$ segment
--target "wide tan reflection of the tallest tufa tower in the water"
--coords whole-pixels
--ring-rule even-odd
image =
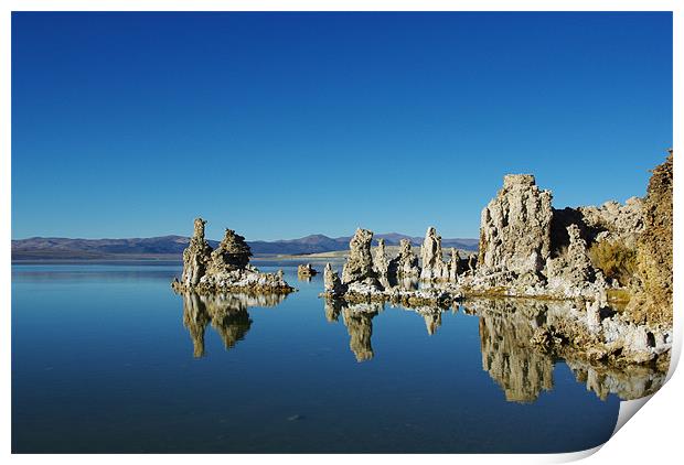
[[[526,314],[513,305],[490,301],[477,310],[480,316],[482,369],[501,387],[510,402],[534,402],[542,390],[554,387],[552,357],[531,350],[528,342],[544,318],[545,309],[531,307]]]

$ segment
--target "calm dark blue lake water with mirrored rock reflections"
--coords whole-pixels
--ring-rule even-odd
[[[278,268],[299,289],[281,302],[177,295],[177,264],[12,266],[13,452],[569,452],[610,437],[618,396],[520,348],[528,336],[505,323],[335,307],[322,274]]]

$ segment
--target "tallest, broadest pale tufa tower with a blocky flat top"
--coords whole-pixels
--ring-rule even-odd
[[[531,174],[504,176],[503,188],[482,210],[478,266],[487,273],[536,275],[551,255],[552,194]]]

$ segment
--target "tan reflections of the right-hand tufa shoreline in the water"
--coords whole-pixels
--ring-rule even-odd
[[[466,315],[479,317],[482,369],[502,389],[506,401],[535,402],[542,391],[554,389],[556,358],[535,350],[530,340],[539,326],[557,324],[571,302],[534,300],[475,299],[462,307]],[[328,322],[338,322],[340,315],[350,335],[350,348],[357,361],[373,358],[373,318],[384,309],[381,303],[349,304],[325,299]],[[443,310],[421,306],[405,309],[421,315],[429,335],[441,326]],[[455,311],[456,313],[456,311]],[[608,394],[620,399],[638,399],[655,392],[665,375],[649,367],[624,369],[594,367],[581,360],[565,360],[578,382],[586,383],[601,400]]]

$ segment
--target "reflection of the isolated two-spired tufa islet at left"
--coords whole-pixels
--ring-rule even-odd
[[[210,323],[228,350],[242,340],[252,327],[248,307],[276,306],[286,298],[284,294],[199,295],[192,292],[182,295],[183,325],[190,333],[193,355],[196,358],[204,356],[204,333]]]

